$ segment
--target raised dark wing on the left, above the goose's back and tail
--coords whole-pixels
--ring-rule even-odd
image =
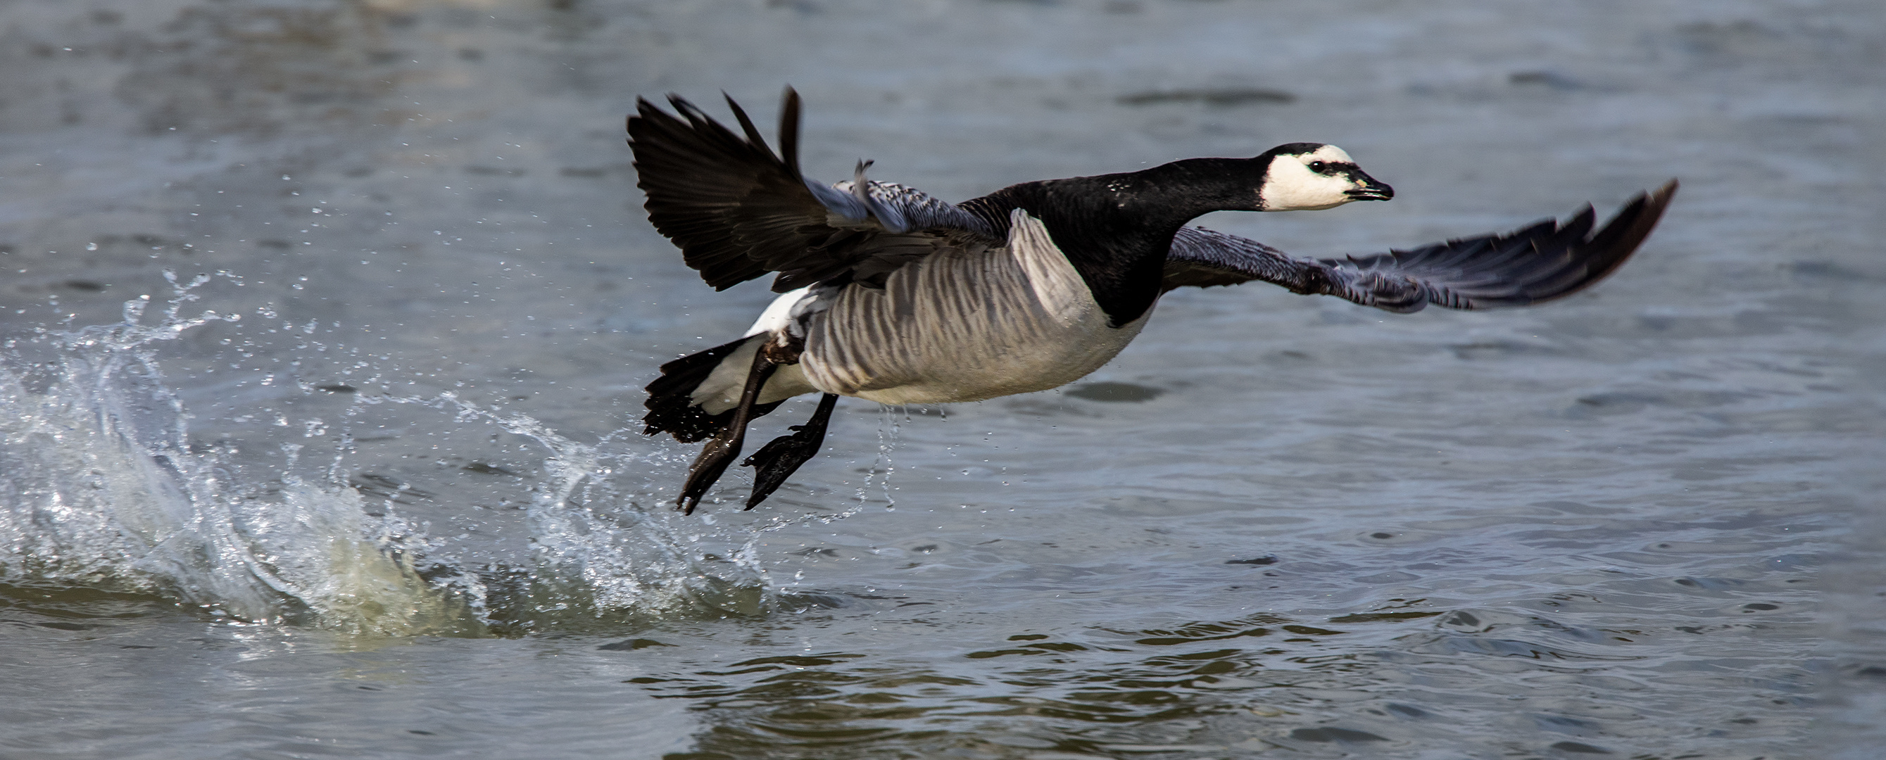
[[[873,183],[858,164],[851,183],[826,187],[800,173],[800,96],[779,115],[781,155],[728,98],[745,136],[670,94],[677,115],[647,100],[628,117],[637,187],[649,221],[719,290],[779,272],[773,290],[854,273],[888,272],[937,245],[1000,245],[988,224],[902,185]]]

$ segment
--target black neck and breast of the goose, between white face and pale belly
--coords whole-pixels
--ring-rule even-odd
[[[960,204],[1009,234],[1009,211],[1047,226],[1113,326],[1152,307],[1166,255],[1184,223],[1211,211],[1254,211],[1267,157],[1186,158],[1143,172],[1011,185]]]

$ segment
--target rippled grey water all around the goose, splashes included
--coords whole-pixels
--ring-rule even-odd
[[[1875,758],[1886,6],[0,2],[0,756]],[[1282,141],[1343,255],[1601,213],[1526,311],[1173,292],[670,509],[743,330],[622,115],[962,200]],[[764,419],[764,441],[811,413]]]

